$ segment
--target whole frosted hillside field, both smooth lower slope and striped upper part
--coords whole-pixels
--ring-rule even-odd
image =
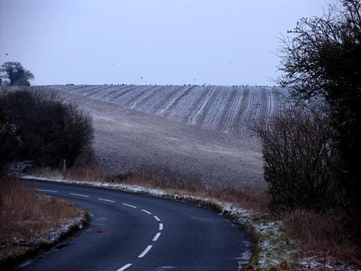
[[[206,185],[263,183],[260,142],[249,127],[282,108],[282,88],[51,86],[93,117],[101,166],[125,173],[166,166]]]

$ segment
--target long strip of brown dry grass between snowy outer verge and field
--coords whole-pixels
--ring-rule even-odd
[[[35,168],[34,175],[61,175],[60,171],[49,168]],[[124,183],[127,185],[141,185],[145,188],[158,188],[168,192],[187,195],[213,197],[224,202],[231,202],[244,209],[257,212],[268,212],[270,197],[265,188],[257,185],[245,185],[241,189],[209,188],[202,185],[197,175],[185,175],[168,168],[140,167],[135,171],[124,174],[110,175],[102,171],[96,163],[77,166],[67,172],[67,178],[73,180],[99,181],[109,183]]]

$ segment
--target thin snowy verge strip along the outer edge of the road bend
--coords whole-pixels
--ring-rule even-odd
[[[92,186],[97,188],[108,188],[113,190],[121,190],[125,192],[134,192],[139,194],[151,195],[154,197],[163,197],[171,200],[179,200],[183,202],[190,202],[198,204],[203,207],[211,207],[222,214],[227,214],[237,224],[246,226],[246,228],[253,232],[258,239],[256,248],[256,255],[248,255],[248,259],[242,257],[242,263],[252,262],[253,268],[260,268],[266,270],[272,266],[280,265],[281,261],[286,261],[292,264],[291,256],[298,251],[297,242],[285,236],[281,231],[282,222],[273,221],[270,217],[256,212],[237,207],[235,204],[228,202],[221,202],[214,198],[197,197],[193,195],[178,195],[176,193],[168,193],[164,190],[144,188],[139,185],[125,185],[121,183],[102,183],[84,180],[69,180],[62,177],[42,177],[35,175],[23,175],[21,178],[26,180],[45,180],[55,183],[67,183],[71,185]],[[304,264],[309,265],[307,261]]]

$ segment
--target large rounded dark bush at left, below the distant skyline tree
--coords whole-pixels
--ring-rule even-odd
[[[0,127],[10,125],[18,139],[13,155],[1,145],[7,159],[33,160],[38,166],[52,168],[66,159],[71,166],[91,144],[91,118],[45,88],[2,91],[0,112]]]

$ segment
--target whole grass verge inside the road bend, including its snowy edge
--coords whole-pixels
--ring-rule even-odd
[[[0,267],[36,255],[87,221],[84,210],[36,193],[16,179],[0,178]]]

